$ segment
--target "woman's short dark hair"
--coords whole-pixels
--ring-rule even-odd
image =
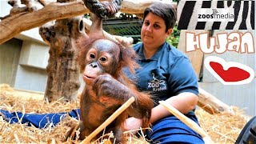
[[[146,8],[146,10],[144,10],[143,21],[146,18],[146,15],[149,13],[158,15],[158,17],[161,17],[165,21],[166,31],[170,28],[174,28],[177,20],[177,14],[174,7],[170,4],[156,2],[150,5],[148,8]]]

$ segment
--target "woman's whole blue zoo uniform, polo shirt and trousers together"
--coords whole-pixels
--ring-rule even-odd
[[[139,56],[138,64],[141,68],[136,70],[134,75],[124,71],[139,90],[150,92],[154,102],[158,104],[158,101],[182,92],[198,95],[198,79],[190,60],[174,46],[165,42],[150,59],[144,57],[142,43],[134,45],[134,50]],[[194,110],[186,116],[198,123]],[[154,122],[151,128],[152,131],[148,130],[147,136],[153,142],[204,143],[199,134],[174,116]],[[166,135],[169,137],[166,138]],[[186,135],[186,139],[182,138],[182,135]]]

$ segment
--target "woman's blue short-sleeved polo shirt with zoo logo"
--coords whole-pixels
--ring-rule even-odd
[[[198,78],[190,60],[174,46],[165,42],[150,59],[144,57],[142,43],[134,45],[134,50],[141,68],[134,75],[127,70],[125,73],[139,90],[150,92],[154,102],[182,92],[198,95]]]

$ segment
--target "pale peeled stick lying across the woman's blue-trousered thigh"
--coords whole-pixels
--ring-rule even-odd
[[[206,133],[206,131],[202,130],[202,128],[200,126],[198,126],[198,124],[196,122],[192,121],[190,118],[187,118],[186,115],[179,112],[177,109],[175,109],[173,106],[171,106],[167,102],[159,101],[159,103],[162,106],[164,106],[166,108],[166,110],[169,110],[171,114],[174,114],[174,116],[176,118],[178,118],[179,120],[184,122],[186,124],[186,126],[189,126],[192,130],[194,130],[195,132],[200,134],[202,136],[203,141],[206,144],[213,143],[212,140],[210,139],[210,136]]]

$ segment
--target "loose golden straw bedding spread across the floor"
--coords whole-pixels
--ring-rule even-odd
[[[68,112],[78,108],[78,102],[45,102],[41,97],[26,98],[19,94],[10,86],[0,85],[0,109],[10,112],[21,111],[22,113],[57,113]],[[243,110],[234,107],[235,114],[208,114],[206,111],[198,108],[196,115],[200,125],[210,138],[216,143],[234,143],[242,127],[246,125],[248,118],[244,117]],[[74,118],[66,117],[57,126],[48,126],[45,129],[38,129],[26,124],[10,124],[0,116],[0,142],[1,143],[63,143],[66,131],[78,121]],[[106,134],[111,138],[112,134]],[[130,143],[146,143],[145,138],[134,138],[128,133],[127,138]],[[103,138],[102,138],[103,139]],[[96,142],[108,141],[99,139]],[[74,140],[74,143],[81,141]],[[66,143],[70,143],[66,142]]]

